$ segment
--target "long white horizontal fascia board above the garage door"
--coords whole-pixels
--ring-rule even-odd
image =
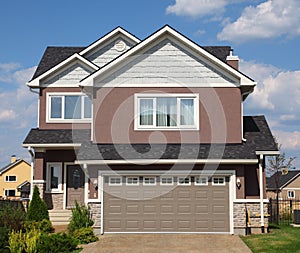
[[[127,160],[77,160],[75,164],[257,164],[257,159],[127,159]]]

